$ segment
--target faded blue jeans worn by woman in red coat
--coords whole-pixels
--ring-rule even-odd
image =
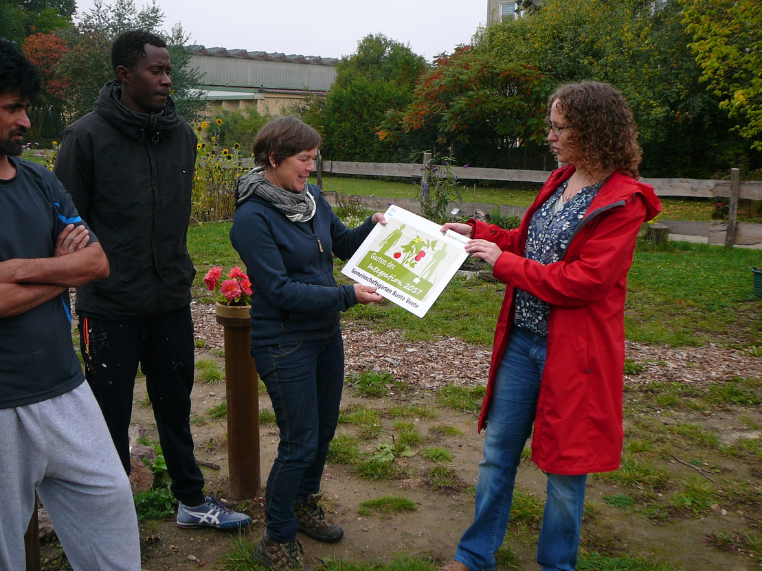
[[[455,559],[472,571],[495,569],[511,515],[521,451],[532,432],[545,366],[547,338],[514,327],[495,377],[479,463],[474,522],[460,538]],[[587,474],[548,477],[537,563],[543,571],[573,571],[577,564]]]

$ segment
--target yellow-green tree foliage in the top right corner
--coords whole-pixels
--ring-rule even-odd
[[[688,44],[719,107],[733,128],[762,151],[762,3],[759,0],[688,0]]]

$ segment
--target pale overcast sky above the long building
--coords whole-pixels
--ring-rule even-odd
[[[77,5],[81,15],[93,2]],[[157,5],[166,16],[165,30],[179,22],[191,41],[203,46],[335,58],[353,53],[367,34],[383,33],[431,60],[469,43],[487,19],[487,0],[157,0]]]

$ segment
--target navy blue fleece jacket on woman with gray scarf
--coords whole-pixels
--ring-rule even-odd
[[[252,346],[325,339],[341,311],[357,304],[354,285],[336,285],[332,254],[350,258],[370,234],[372,217],[347,228],[319,187],[308,184],[305,192],[317,205],[309,222],[291,222],[259,196],[235,211],[230,241],[251,279]]]

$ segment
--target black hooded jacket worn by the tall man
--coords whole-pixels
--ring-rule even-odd
[[[54,172],[106,252],[110,275],[77,289],[78,314],[152,317],[191,302],[187,252],[196,135],[171,99],[136,113],[104,85],[95,110],[63,132]]]

